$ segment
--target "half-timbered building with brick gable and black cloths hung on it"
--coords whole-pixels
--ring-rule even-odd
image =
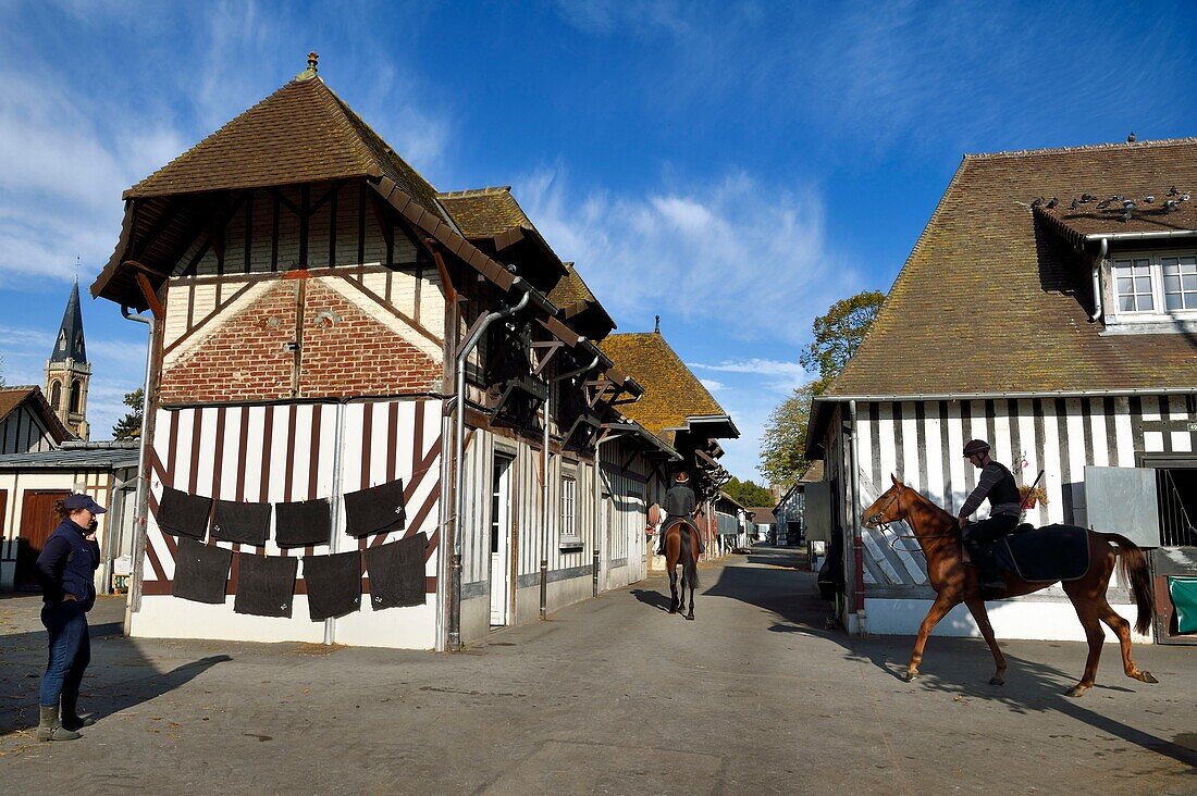
[[[150,329],[130,634],[451,650],[644,577],[654,479],[706,438],[636,421],[614,323],[509,189],[438,193],[312,59],[124,199],[92,293]],[[358,534],[351,498],[395,488]],[[172,506],[208,500],[268,524],[203,514],[196,546]]]

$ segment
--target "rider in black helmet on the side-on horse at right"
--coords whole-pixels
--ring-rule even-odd
[[[960,508],[958,522],[964,529],[965,547],[980,570],[982,588],[996,590],[1004,589],[1005,581],[998,572],[990,542],[1009,534],[1019,524],[1022,497],[1014,475],[1005,466],[990,458],[989,450],[989,443],[984,439],[971,439],[965,445],[965,458],[982,473],[977,479],[977,488]],[[989,500],[989,517],[970,525],[968,516],[980,508],[983,500]]]

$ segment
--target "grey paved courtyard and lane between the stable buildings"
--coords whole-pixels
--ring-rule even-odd
[[[0,791],[1197,792],[1197,650],[1106,646],[1098,687],[1062,692],[1083,645],[825,628],[783,551],[701,570],[694,622],[660,577],[492,634],[461,655],[129,640],[92,614],[80,741],[37,743],[40,600],[0,600]]]

